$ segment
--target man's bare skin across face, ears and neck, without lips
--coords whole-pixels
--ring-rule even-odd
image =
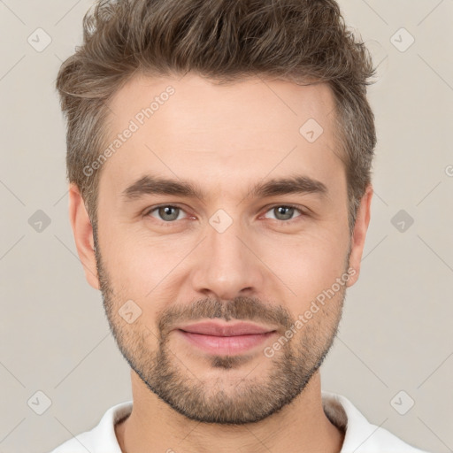
[[[70,186],[86,278],[101,289],[131,365],[134,408],[116,426],[121,449],[338,452],[343,434],[322,410],[319,365],[334,341],[346,288],[359,275],[372,187],[350,237],[332,92],[325,84],[261,78],[219,86],[195,74],[140,75],[111,100],[111,139],[168,86],[174,94],[102,167],[97,232],[79,189]],[[299,133],[308,119],[324,129],[315,142]],[[204,197],[125,201],[121,193],[146,174],[191,181]],[[323,182],[326,196],[250,196],[257,182],[295,174]],[[301,211],[279,211],[288,204]],[[180,210],[153,210],[157,205]],[[218,210],[232,221],[222,233],[210,223]],[[266,357],[265,347],[348,270],[334,296]],[[127,301],[140,313],[131,323],[119,314]],[[175,330],[202,319],[250,320],[276,332],[247,353],[208,354]]]

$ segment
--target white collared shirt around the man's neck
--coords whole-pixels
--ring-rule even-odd
[[[346,429],[340,453],[426,453],[403,442],[394,434],[372,425],[344,396],[322,391],[326,416]],[[115,435],[115,424],[132,411],[132,401],[112,406],[97,426],[65,441],[50,453],[121,453]]]

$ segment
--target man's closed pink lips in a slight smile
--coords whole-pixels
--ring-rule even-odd
[[[236,355],[257,348],[277,333],[273,327],[239,322],[219,323],[204,321],[175,330],[191,346],[217,355]]]

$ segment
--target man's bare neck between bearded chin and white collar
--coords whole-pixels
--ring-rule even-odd
[[[123,453],[339,453],[344,433],[322,408],[319,371],[303,392],[280,411],[257,423],[218,425],[190,420],[150,392],[131,372],[134,405],[115,426]]]

